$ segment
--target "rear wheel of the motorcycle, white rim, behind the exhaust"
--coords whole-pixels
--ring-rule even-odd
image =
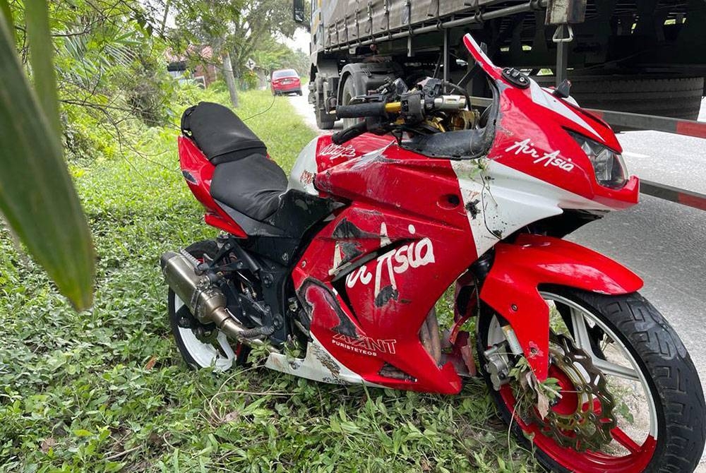
[[[213,258],[217,253],[216,242],[214,240],[197,241],[187,246],[186,252],[199,261],[203,260],[204,255]],[[213,335],[209,337],[209,340],[203,340],[203,337],[197,335],[196,329],[180,326],[179,320],[184,316],[191,316],[193,323],[198,323],[198,321],[193,318],[189,309],[184,306],[184,302],[174,294],[172,289],[169,289],[169,294],[167,294],[167,306],[174,342],[177,344],[181,357],[191,369],[213,367],[214,371],[228,371],[233,366],[246,364],[250,347],[241,343],[231,345],[231,341],[225,333],[215,327],[210,327],[213,330]]]

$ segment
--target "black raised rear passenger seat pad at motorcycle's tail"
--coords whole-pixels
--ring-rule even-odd
[[[181,115],[181,133],[196,142],[213,164],[267,155],[265,143],[228,107],[199,102]]]

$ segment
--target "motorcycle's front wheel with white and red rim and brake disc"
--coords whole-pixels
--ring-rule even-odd
[[[553,472],[693,472],[706,437],[703,390],[659,311],[638,293],[553,287],[541,294],[550,309],[546,384],[534,383],[526,362],[503,349],[500,316],[486,307],[478,324],[481,370],[520,444]],[[500,349],[491,355],[493,346]],[[486,372],[486,353],[510,367],[500,390]]]

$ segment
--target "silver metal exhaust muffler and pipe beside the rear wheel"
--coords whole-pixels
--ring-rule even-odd
[[[261,338],[246,337],[251,330],[232,316],[226,307],[225,294],[216,287],[215,280],[208,275],[197,274],[193,257],[167,251],[160,258],[160,265],[167,285],[184,301],[198,321],[213,322],[226,335],[246,345],[266,345]]]

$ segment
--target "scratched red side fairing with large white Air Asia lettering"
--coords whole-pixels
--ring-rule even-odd
[[[349,172],[346,169],[354,167],[354,163],[349,164],[339,172]],[[411,172],[417,172],[419,164],[411,166]],[[440,179],[436,195],[448,194],[452,186],[457,188],[448,166],[446,162],[443,174],[449,179]],[[364,167],[352,172],[376,175]],[[339,177],[342,182],[354,182]],[[398,182],[405,185],[403,179]],[[425,385],[425,390],[455,393],[460,389],[460,378],[451,366],[436,366],[421,345],[418,333],[455,275],[476,259],[465,210],[460,203],[444,209],[432,201],[427,206],[428,218],[409,218],[392,210],[397,203],[394,188],[387,188],[384,194],[393,198],[389,206],[374,209],[352,205],[316,236],[294,271],[295,287],[307,287],[313,279],[337,292],[340,307],[347,308],[344,313],[330,304],[312,304],[311,289],[306,292],[307,303],[312,306],[311,331],[342,364],[356,366],[366,381],[408,389]],[[443,224],[445,216],[459,227]],[[346,250],[347,245],[351,249]],[[439,268],[448,272],[440,274]],[[343,302],[342,295],[349,305]],[[342,315],[349,320],[342,323]],[[380,376],[385,363],[417,381]]]

